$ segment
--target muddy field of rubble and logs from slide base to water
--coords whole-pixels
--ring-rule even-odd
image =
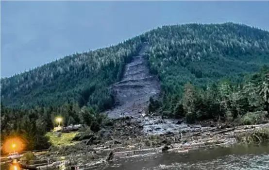
[[[107,136],[101,133],[95,134],[99,135],[97,140],[100,140],[100,143],[85,144],[86,139],[74,146],[56,149],[54,153],[51,150],[50,156],[54,158],[65,156],[64,164],[67,169],[72,165],[80,169],[99,169],[100,166],[108,167],[117,160],[128,158],[146,157],[164,152],[188,153],[201,148],[226,147],[240,142],[238,136],[246,136],[269,128],[269,123],[219,129],[185,123],[176,124],[176,120],[160,122],[156,117],[144,118],[144,120],[149,123],[146,128],[141,127],[142,122],[139,123],[137,119],[130,117],[116,119],[112,127],[102,130],[102,134],[107,133]],[[171,131],[163,129],[149,132],[149,129],[158,126],[167,126]]]

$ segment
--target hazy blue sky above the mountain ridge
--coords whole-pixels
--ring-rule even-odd
[[[269,1],[1,1],[1,77],[165,24],[236,22],[269,30]]]

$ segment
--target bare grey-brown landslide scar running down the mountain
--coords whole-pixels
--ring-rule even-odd
[[[148,44],[143,43],[138,56],[125,66],[121,81],[112,85],[116,92],[116,105],[107,112],[109,118],[133,116],[138,118],[149,105],[150,97],[159,95],[161,87],[155,75],[150,73],[143,54]]]

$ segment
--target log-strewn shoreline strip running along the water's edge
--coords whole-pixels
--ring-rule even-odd
[[[130,121],[123,120],[123,122],[128,124]],[[120,122],[121,126],[123,126],[123,122]],[[133,128],[132,123],[129,126],[131,126],[130,129]],[[116,123],[116,131],[118,130],[117,128],[118,125]],[[128,128],[125,126],[121,129],[128,131]],[[64,169],[69,169],[70,166],[94,168],[97,165],[107,164],[121,159],[150,156],[164,152],[188,153],[199,149],[229,147],[235,144],[248,143],[248,141],[243,141],[245,136],[251,136],[253,133],[255,135],[255,133],[264,130],[269,132],[269,123],[242,125],[223,129],[217,127],[194,127],[189,128],[189,131],[185,130],[179,133],[168,131],[155,135],[141,133],[140,136],[139,134],[136,134],[136,136],[134,134],[133,136],[136,136],[134,138],[132,138],[132,134],[129,134],[129,141],[125,143],[124,139],[121,139],[121,136],[116,137],[116,135],[112,136],[112,140],[104,140],[97,145],[87,145],[87,142],[89,142],[88,139],[86,144],[81,141],[73,146],[58,148],[54,156],[65,157],[63,163]],[[140,129],[140,132],[143,132],[143,130]],[[126,134],[122,135],[124,136]],[[261,140],[259,137],[257,138]],[[252,142],[254,143],[254,141]],[[80,152],[78,153],[77,151]],[[53,157],[53,154],[51,156]]]

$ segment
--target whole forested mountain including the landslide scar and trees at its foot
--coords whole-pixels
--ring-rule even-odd
[[[1,144],[16,136],[27,150],[49,148],[59,123],[83,124],[74,138],[94,134],[93,145],[111,133],[126,141],[268,123],[268,47],[269,32],[246,25],[163,26],[1,79]]]

